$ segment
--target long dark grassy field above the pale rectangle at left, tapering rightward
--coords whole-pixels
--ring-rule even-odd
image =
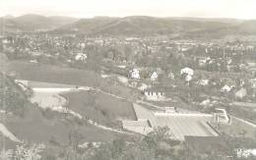
[[[36,86],[39,84],[39,81],[50,82],[54,86],[57,85],[56,83],[91,86],[128,98],[132,98],[134,94],[138,93],[138,91],[136,92],[132,88],[114,83],[112,80],[102,79],[100,75],[89,70],[33,64],[26,61],[9,61],[8,71],[16,73],[16,79],[35,81]],[[45,83],[40,85],[45,85]]]

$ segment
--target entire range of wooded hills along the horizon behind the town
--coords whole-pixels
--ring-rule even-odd
[[[186,38],[222,37],[225,35],[256,35],[256,20],[206,18],[156,18],[130,16],[124,18],[95,17],[76,19],[25,15],[1,18],[7,30],[44,30],[50,33],[79,33],[86,35],[151,36],[169,35]]]

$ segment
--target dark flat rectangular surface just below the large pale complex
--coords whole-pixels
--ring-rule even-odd
[[[231,155],[231,149],[221,136],[185,136],[188,149],[197,154]]]

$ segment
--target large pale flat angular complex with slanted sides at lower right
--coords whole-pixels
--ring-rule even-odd
[[[180,113],[155,113],[145,107],[133,104],[137,120],[131,124],[123,122],[123,128],[136,133],[147,134],[157,127],[168,127],[172,138],[184,140],[186,135],[192,136],[217,136],[208,122],[213,116],[207,114],[180,114]],[[141,130],[141,122],[148,122]]]

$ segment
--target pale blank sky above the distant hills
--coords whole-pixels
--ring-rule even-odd
[[[0,16],[199,17],[256,20],[256,0],[0,0]]]

